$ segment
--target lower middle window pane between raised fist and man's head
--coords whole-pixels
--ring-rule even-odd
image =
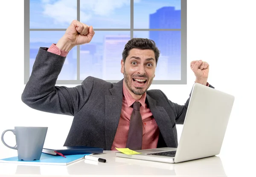
[[[80,46],[80,80],[121,80],[122,51],[128,40],[130,31],[95,31],[92,41]]]

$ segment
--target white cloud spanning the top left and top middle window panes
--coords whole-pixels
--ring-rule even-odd
[[[76,1],[75,0],[41,0],[44,8],[43,14],[54,20],[55,24],[70,24],[76,19]],[[140,0],[134,0],[139,3]],[[80,19],[90,20],[93,15],[111,16],[115,9],[129,6],[130,0],[80,0]]]

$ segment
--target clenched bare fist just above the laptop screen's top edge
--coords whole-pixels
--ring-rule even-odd
[[[190,68],[195,74],[195,82],[206,85],[209,74],[209,64],[202,60],[195,60],[190,63]]]

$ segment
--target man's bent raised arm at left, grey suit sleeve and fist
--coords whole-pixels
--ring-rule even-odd
[[[94,34],[92,26],[73,20],[56,47],[68,52],[76,45],[89,43]],[[40,111],[74,115],[86,103],[93,88],[93,78],[88,77],[73,88],[55,86],[65,57],[47,50],[39,49],[21,99],[27,106]]]

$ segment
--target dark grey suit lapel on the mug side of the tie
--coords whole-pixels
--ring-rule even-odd
[[[121,115],[122,84],[123,80],[119,81],[113,88],[109,89],[112,95],[105,95],[105,140],[107,150],[111,149]]]

